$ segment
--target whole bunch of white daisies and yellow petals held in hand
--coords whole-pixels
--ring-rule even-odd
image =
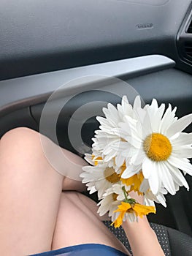
[[[137,221],[155,213],[155,203],[166,207],[164,197],[180,187],[189,189],[183,174],[192,175],[192,133],[182,132],[192,121],[192,114],[178,119],[176,108],[169,105],[134,105],[123,96],[117,108],[108,104],[104,116],[97,116],[100,129],[92,139],[92,154],[85,154],[90,164],[82,167],[82,182],[90,193],[98,192],[100,216],[109,212],[112,224]],[[143,195],[143,204],[131,192]],[[154,203],[155,202],[155,203]]]

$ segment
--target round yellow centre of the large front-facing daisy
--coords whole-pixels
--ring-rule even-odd
[[[161,133],[152,133],[145,138],[143,148],[147,157],[155,162],[165,161],[172,153],[172,144]]]

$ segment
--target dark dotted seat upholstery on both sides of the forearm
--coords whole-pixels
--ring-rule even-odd
[[[110,221],[104,221],[112,233],[126,246],[129,252],[131,252],[128,239],[123,227],[115,228],[110,226]],[[192,238],[184,233],[174,230],[170,227],[150,223],[151,227],[156,233],[159,243],[161,244],[164,254],[166,256],[192,256]],[[144,238],[145,239],[145,238]]]

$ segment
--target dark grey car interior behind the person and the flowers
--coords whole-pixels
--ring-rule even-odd
[[[101,108],[125,94],[192,113],[191,0],[1,0],[0,13],[0,138],[29,127],[83,157]],[[185,178],[148,218],[165,255],[192,255]]]

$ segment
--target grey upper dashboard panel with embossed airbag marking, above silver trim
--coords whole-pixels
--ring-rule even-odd
[[[177,59],[191,0],[1,0],[0,79],[148,54]]]

